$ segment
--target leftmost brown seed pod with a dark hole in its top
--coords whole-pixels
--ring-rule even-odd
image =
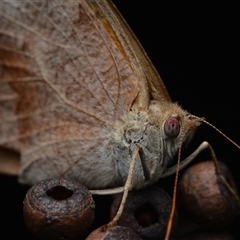
[[[64,179],[41,181],[24,199],[25,224],[38,239],[80,239],[94,220],[95,204],[87,188]]]

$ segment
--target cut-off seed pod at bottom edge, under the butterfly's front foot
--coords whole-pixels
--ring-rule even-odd
[[[106,232],[97,228],[86,238],[86,240],[140,240],[141,238],[129,227],[114,226]]]

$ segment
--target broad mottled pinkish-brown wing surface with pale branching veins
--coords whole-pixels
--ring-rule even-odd
[[[128,58],[85,1],[1,1],[0,18],[0,145],[21,152],[21,180],[99,174],[139,92]]]

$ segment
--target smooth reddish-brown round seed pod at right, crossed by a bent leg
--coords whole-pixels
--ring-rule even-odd
[[[213,161],[205,161],[188,168],[179,181],[179,205],[194,222],[207,228],[229,225],[240,211],[231,173],[218,163],[221,175]]]

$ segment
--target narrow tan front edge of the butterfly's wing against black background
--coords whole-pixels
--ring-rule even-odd
[[[105,21],[113,23],[109,24],[115,33],[113,36],[117,36],[125,54],[129,58],[135,75],[138,76],[141,91],[137,99],[136,107],[140,108],[140,110],[147,108],[149,99],[156,99],[160,102],[171,102],[171,98],[161,77],[116,7],[110,0],[106,1],[107,4],[102,4],[99,1],[93,0],[89,2],[92,4],[94,3],[93,5],[97,6],[97,10],[102,10],[102,18]]]

